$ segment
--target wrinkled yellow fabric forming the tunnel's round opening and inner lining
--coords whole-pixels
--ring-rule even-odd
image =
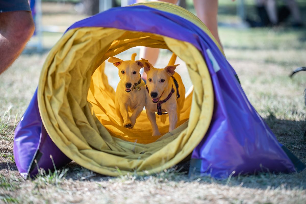
[[[177,54],[186,62],[194,85],[173,132],[167,133],[168,116],[158,117],[165,133],[160,138],[151,136],[144,111],[133,129],[118,126],[114,90],[104,73],[108,57],[139,45]],[[192,152],[209,127],[214,95],[205,61],[190,43],[151,33],[85,27],[66,32],[50,51],[39,79],[38,103],[50,138],[70,159],[105,175],[142,175],[169,168]]]

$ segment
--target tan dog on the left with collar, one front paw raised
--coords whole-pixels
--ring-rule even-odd
[[[132,54],[132,60],[123,61],[116,57],[110,57],[119,70],[120,81],[116,90],[115,108],[120,123],[125,128],[133,128],[136,118],[144,109],[145,83],[141,79],[139,70],[144,66],[139,60],[135,60],[136,53]],[[129,116],[129,112],[132,113]]]

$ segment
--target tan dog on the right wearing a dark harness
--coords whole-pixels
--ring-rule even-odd
[[[160,135],[156,124],[155,112],[169,114],[169,132],[176,128],[180,110],[185,101],[185,87],[181,76],[174,70],[177,65],[168,65],[164,69],[154,68],[147,60],[142,59],[144,72],[147,73],[146,113],[151,123],[152,135]]]

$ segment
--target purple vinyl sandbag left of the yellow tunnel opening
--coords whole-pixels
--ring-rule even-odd
[[[71,161],[56,147],[43,127],[38,110],[37,89],[15,129],[13,153],[17,169],[24,179],[37,174],[34,159],[37,160],[39,168],[50,170],[54,170],[50,154],[57,168]]]

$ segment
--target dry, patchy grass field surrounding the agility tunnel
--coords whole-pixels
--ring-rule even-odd
[[[220,21],[239,24],[236,6],[221,2]],[[305,4],[301,9],[305,20]],[[84,18],[67,3],[43,3],[43,11],[44,25],[67,28]],[[219,32],[248,99],[277,139],[306,163],[306,73],[289,78],[293,69],[306,66],[306,29],[225,26]],[[0,76],[0,203],[306,203],[306,170],[214,180],[188,178],[174,167],[155,175],[109,177],[71,162],[54,173],[23,180],[13,157],[14,127],[37,87],[47,51],[61,35],[44,33],[43,53],[28,47]],[[159,63],[166,62],[160,58]]]

